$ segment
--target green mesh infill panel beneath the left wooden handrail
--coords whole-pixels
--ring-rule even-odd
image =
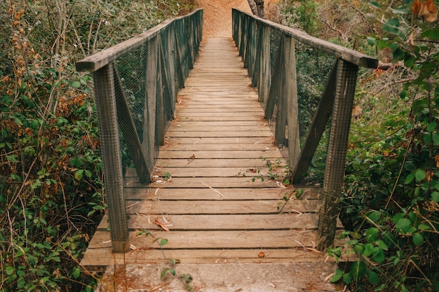
[[[198,55],[198,25],[201,26],[200,15],[177,19],[115,61],[122,88],[121,96],[116,98],[123,99],[128,106],[127,113],[118,112],[125,179],[142,181],[140,175],[149,176],[149,172],[138,171],[138,149],[129,144],[138,139],[150,170],[173,119],[177,90],[184,86]],[[127,123],[133,123],[135,131],[123,130],[122,125]]]

